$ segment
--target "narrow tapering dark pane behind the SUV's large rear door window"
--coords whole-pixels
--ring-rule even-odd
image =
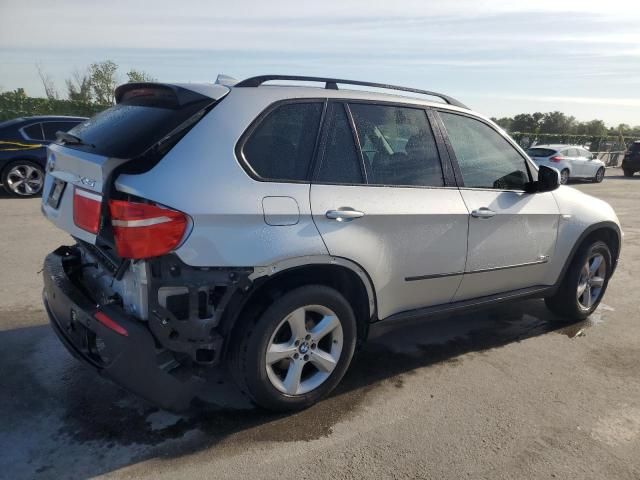
[[[360,158],[344,105],[335,104],[329,119],[329,133],[324,149],[319,182],[363,183]]]

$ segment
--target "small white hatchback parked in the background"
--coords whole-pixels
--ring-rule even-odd
[[[562,184],[571,178],[586,178],[598,183],[604,179],[604,162],[576,145],[536,145],[527,150],[527,154],[536,165],[558,169]]]

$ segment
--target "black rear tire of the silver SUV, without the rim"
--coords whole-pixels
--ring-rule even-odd
[[[299,308],[315,305],[328,308],[337,316],[342,327],[342,351],[333,371],[323,383],[307,393],[289,395],[278,390],[269,379],[267,348],[285,318]],[[278,298],[258,318],[244,320],[247,324],[235,337],[236,344],[231,347],[232,374],[243,393],[263,408],[292,411],[310,407],[338,385],[351,363],[356,346],[356,318],[347,300],[332,288],[322,285],[296,288]],[[292,360],[285,359],[287,361]]]

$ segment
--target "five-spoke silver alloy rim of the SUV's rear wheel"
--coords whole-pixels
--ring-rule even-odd
[[[338,365],[343,347],[338,316],[321,305],[306,305],[276,327],[265,353],[271,384],[287,395],[318,388]]]

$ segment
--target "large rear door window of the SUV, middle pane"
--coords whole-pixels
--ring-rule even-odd
[[[350,105],[365,155],[368,183],[444,185],[436,142],[424,110]]]

